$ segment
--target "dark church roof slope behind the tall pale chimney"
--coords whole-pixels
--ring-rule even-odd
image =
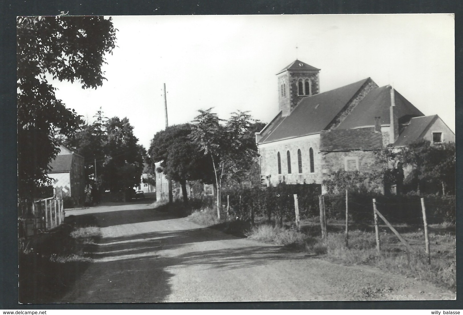
[[[390,124],[391,86],[382,86],[371,90],[339,124],[337,129],[351,129],[375,124],[375,117],[381,117],[381,124]],[[423,113],[394,91],[395,106],[399,123],[408,121],[411,117],[423,116]]]

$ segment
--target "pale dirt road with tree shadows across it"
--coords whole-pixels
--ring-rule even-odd
[[[203,228],[148,204],[96,207],[94,261],[57,303],[453,299],[365,266],[342,266]]]

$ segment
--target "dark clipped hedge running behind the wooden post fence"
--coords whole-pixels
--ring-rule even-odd
[[[267,217],[269,220],[280,218],[294,220],[294,197],[298,195],[300,217],[319,216],[320,185],[278,185],[277,187],[246,188],[242,190],[222,191],[224,213],[227,195],[230,202],[231,216],[241,219]],[[241,201],[240,201],[241,197]],[[422,224],[420,196],[365,194],[349,192],[349,216],[351,222],[371,223],[373,220],[373,201],[376,207],[391,223]],[[455,196],[426,195],[425,207],[429,224],[455,222]],[[345,218],[345,193],[324,195],[327,218]]]

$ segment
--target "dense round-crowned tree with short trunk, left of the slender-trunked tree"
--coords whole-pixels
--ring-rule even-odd
[[[169,126],[154,135],[149,149],[150,159],[162,161],[162,172],[180,183],[184,202],[188,202],[188,180],[207,181],[211,177],[211,172],[205,167],[207,162],[204,155],[189,138],[191,131],[190,124]]]

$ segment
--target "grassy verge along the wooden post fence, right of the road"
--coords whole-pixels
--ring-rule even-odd
[[[320,238],[319,217],[302,222],[300,231],[291,228],[291,225],[279,227],[275,226],[274,222],[266,223],[265,218],[256,218],[256,226],[252,226],[247,221],[233,220],[233,218],[219,220],[216,211],[212,208],[193,211],[188,216],[188,220],[228,234],[282,245],[285,250],[304,252],[334,263],[374,266],[456,291],[454,223],[429,225],[431,265],[428,265],[423,229],[406,224],[395,226],[395,228],[412,248],[410,263],[404,245],[386,226],[380,228],[381,253],[378,254],[375,232],[368,224],[349,226],[349,244],[346,247],[344,222],[331,218],[327,220],[328,237],[326,240]]]

